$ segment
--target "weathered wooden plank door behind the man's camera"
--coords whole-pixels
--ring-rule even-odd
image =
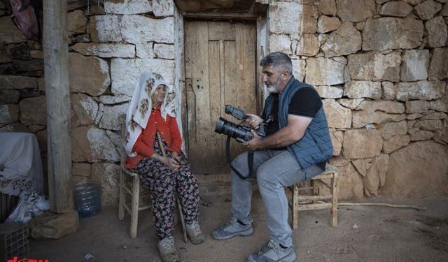
[[[188,158],[196,173],[226,173],[224,134],[216,122],[226,115],[224,105],[256,113],[255,24],[186,21],[185,68]],[[245,147],[232,138],[232,159]]]

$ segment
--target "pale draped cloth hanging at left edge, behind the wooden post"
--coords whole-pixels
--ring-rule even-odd
[[[33,133],[1,132],[0,166],[1,193],[43,193],[41,152]]]

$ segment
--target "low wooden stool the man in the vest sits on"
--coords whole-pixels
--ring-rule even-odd
[[[299,182],[289,187],[292,193],[290,208],[292,209],[293,229],[297,228],[299,223],[299,211],[318,210],[330,208],[330,225],[337,226],[337,180],[339,170],[334,166],[327,164],[325,171],[316,177],[311,178],[311,186],[302,187],[303,182]],[[325,180],[330,180],[330,183]],[[330,189],[328,195],[318,195],[318,184]],[[299,195],[299,191],[312,190],[312,195]],[[318,203],[318,201],[320,203]],[[326,202],[328,201],[328,202]]]

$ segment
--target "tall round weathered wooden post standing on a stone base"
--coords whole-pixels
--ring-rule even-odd
[[[73,211],[67,1],[43,0],[50,210]]]

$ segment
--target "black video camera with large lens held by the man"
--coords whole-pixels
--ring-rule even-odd
[[[234,108],[232,105],[225,105],[224,112],[240,120],[246,119],[248,117],[243,110]],[[264,122],[260,123],[259,129],[256,130],[252,129],[249,126],[240,126],[239,124],[234,124],[226,119],[223,119],[223,117],[219,117],[218,122],[216,122],[215,132],[231,136],[232,138],[235,138],[235,140],[237,140],[239,143],[244,143],[253,138],[253,133],[251,132],[252,130],[255,130],[258,136],[264,138],[267,135],[265,128],[271,122],[272,118],[269,117]]]

